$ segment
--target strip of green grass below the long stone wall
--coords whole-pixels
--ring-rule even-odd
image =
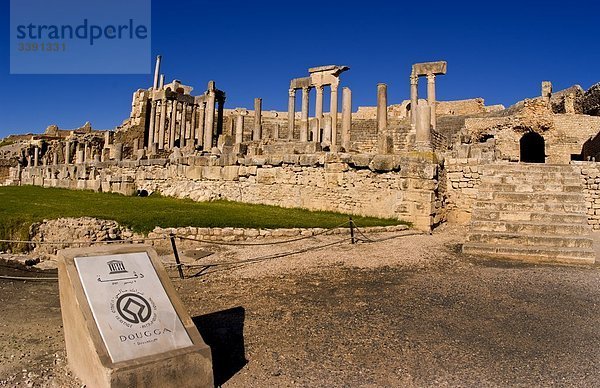
[[[194,202],[152,195],[126,197],[37,186],[0,187],[0,239],[26,237],[43,219],[95,217],[115,220],[136,232],[161,227],[331,228],[348,215],[238,202]],[[394,219],[353,216],[359,226],[406,224]]]

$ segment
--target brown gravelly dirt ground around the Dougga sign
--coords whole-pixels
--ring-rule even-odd
[[[187,247],[189,264],[211,266],[170,274],[211,346],[216,385],[600,386],[600,267],[467,257],[461,229],[403,234],[272,259],[339,236]],[[0,280],[0,329],[0,386],[81,386],[56,282]]]

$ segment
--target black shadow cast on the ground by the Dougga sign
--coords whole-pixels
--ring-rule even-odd
[[[245,315],[246,310],[240,306],[192,318],[204,342],[210,346],[216,386],[227,382],[247,363]]]

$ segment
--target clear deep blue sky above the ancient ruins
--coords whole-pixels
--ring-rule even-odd
[[[150,74],[9,75],[9,1],[0,1],[0,137],[85,121],[113,128],[127,118],[132,92],[151,85]],[[167,81],[202,92],[215,80],[227,108],[262,97],[264,110],[286,110],[289,80],[325,64],[350,66],[342,84],[354,109],[375,105],[378,82],[388,84],[390,104],[408,99],[411,64],[431,60],[448,61],[439,100],[508,106],[537,96],[543,80],[555,90],[600,81],[597,2],[408,4],[155,0],[152,55],[163,55]]]

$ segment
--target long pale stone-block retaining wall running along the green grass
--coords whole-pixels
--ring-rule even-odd
[[[215,156],[12,169],[13,183],[132,195],[137,190],[195,201],[231,201],[328,210],[413,222],[442,221],[438,165],[427,155]]]

